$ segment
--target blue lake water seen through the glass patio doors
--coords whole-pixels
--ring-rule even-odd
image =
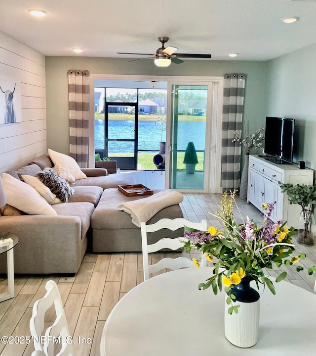
[[[95,120],[95,148],[104,150],[104,120]],[[109,125],[109,138],[111,139],[132,139],[134,121],[132,120],[111,120]],[[138,122],[138,150],[159,150],[159,141],[165,141],[166,132],[158,130],[155,121]],[[192,141],[197,151],[205,149],[205,122],[201,121],[180,121],[178,123],[178,150],[185,150],[188,142]],[[112,153],[131,152],[132,143],[114,142],[111,143]]]

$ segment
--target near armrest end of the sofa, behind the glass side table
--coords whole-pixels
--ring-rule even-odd
[[[14,248],[15,273],[76,273],[81,263],[78,216],[1,216],[0,230],[19,238]],[[6,256],[0,255],[0,273]]]

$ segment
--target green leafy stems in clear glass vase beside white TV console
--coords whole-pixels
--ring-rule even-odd
[[[302,208],[297,228],[297,243],[304,246],[314,245],[315,222],[314,209],[316,206],[316,187],[305,184],[282,184],[278,182],[282,193],[288,195],[290,204],[299,204]]]

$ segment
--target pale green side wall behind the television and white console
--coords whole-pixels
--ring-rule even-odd
[[[294,161],[316,169],[316,44],[267,62],[267,116],[295,119]]]

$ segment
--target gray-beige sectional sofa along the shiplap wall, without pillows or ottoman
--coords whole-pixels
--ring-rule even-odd
[[[48,154],[44,154],[29,165],[6,173],[22,179],[22,174],[36,176],[40,170],[52,166]],[[76,180],[75,194],[69,202],[51,205],[57,216],[0,216],[0,230],[19,237],[14,248],[15,273],[76,273],[88,240],[91,241],[91,216],[104,189],[136,183],[132,173],[108,176],[102,168],[82,168],[82,171],[87,178]],[[0,273],[5,272],[6,254],[1,254]]]

